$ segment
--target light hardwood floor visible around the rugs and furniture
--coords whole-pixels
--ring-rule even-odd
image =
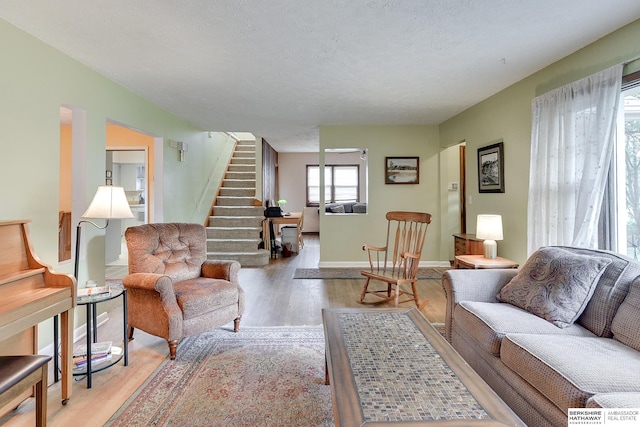
[[[318,236],[305,235],[305,246],[300,254],[271,260],[269,265],[261,268],[243,268],[240,271],[240,283],[246,293],[246,309],[240,327],[320,325],[322,308],[362,307],[356,302],[362,290],[362,280],[293,279],[296,268],[316,268],[319,254]],[[122,268],[111,269],[107,270],[107,277],[116,278],[124,273]],[[440,281],[421,280],[418,290],[421,298],[430,300],[422,310],[425,317],[432,323],[444,322],[445,297]],[[110,320],[99,328],[100,340],[118,342],[122,339],[120,301],[120,298],[114,300],[117,305],[109,311]],[[410,306],[408,303],[404,305]],[[392,306],[392,303],[386,306]],[[230,324],[225,327],[231,331],[233,326]],[[167,355],[166,341],[136,331],[135,339],[129,345],[129,366],[120,363],[94,374],[91,389],[86,388],[86,380],[78,378],[73,385],[73,395],[65,406],[60,402],[60,383],[49,387],[48,425],[103,425]],[[32,426],[32,400],[0,418],[0,425]]]

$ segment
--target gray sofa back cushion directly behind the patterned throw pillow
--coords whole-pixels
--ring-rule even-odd
[[[611,322],[622,304],[631,282],[640,275],[640,263],[621,254],[597,249],[558,246],[572,253],[609,258],[611,264],[598,280],[591,300],[577,323],[596,335],[611,338]]]

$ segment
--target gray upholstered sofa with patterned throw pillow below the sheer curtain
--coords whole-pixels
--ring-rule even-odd
[[[530,426],[566,426],[569,408],[639,408],[639,275],[630,258],[570,247],[520,270],[449,270],[446,338]]]

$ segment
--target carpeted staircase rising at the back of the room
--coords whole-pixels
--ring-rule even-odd
[[[238,141],[209,216],[208,259],[236,260],[243,267],[269,264],[269,251],[258,249],[264,208],[254,206],[255,195],[255,141]]]

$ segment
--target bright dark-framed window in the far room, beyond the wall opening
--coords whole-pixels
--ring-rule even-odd
[[[326,203],[358,202],[359,165],[325,165],[324,199]],[[307,206],[320,205],[320,166],[307,165]]]

